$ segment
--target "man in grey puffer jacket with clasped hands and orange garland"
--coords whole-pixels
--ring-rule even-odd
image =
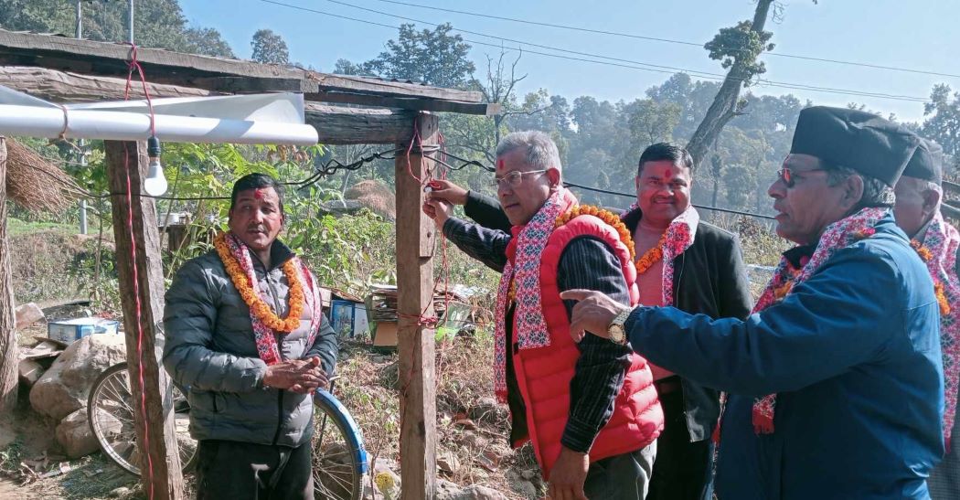
[[[276,179],[237,180],[230,230],[166,294],[163,365],[190,400],[200,499],[314,497],[310,393],[338,346],[313,275],[276,239],[283,222]]]

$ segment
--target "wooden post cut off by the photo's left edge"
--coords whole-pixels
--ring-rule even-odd
[[[7,242],[7,139],[0,135],[0,415],[16,406],[17,354],[13,277]]]

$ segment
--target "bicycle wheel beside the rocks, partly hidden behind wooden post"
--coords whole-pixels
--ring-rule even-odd
[[[197,464],[197,441],[190,437],[190,405],[176,386],[174,419],[177,442],[180,445],[180,464],[188,471]],[[97,377],[86,400],[86,415],[90,431],[100,443],[108,458],[133,475],[140,475],[139,448],[133,422],[133,393],[126,363],[108,368]]]

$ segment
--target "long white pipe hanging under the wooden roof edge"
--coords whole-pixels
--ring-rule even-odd
[[[141,113],[0,105],[0,134],[105,140],[145,140],[151,135],[150,116]],[[166,142],[234,144],[317,144],[309,125],[224,120],[157,114],[156,136]]]

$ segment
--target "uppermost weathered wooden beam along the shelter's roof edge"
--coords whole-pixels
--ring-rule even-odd
[[[128,44],[0,30],[0,64],[126,78],[131,54]],[[476,91],[329,75],[294,66],[180,54],[162,49],[138,47],[136,58],[151,82],[198,86],[211,91],[230,92],[240,87],[249,92],[293,89],[303,93],[352,92],[474,104],[483,101],[483,95]]]

